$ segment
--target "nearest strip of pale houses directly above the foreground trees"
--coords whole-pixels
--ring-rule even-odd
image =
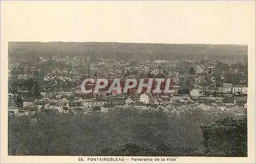
[[[13,96],[13,94],[10,94]],[[11,98],[10,98],[11,99]],[[60,113],[90,114],[92,112],[106,113],[114,108],[135,110],[163,111],[181,115],[185,112],[201,110],[207,115],[247,114],[247,96],[237,97],[227,95],[225,97],[198,97],[170,96],[151,93],[143,93],[139,96],[105,96],[101,98],[42,98],[24,101],[23,107],[18,108],[10,104],[9,115],[28,115],[37,112],[52,111]]]

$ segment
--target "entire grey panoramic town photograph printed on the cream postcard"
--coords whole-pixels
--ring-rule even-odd
[[[8,155],[247,157],[247,91],[247,45],[9,42]]]

